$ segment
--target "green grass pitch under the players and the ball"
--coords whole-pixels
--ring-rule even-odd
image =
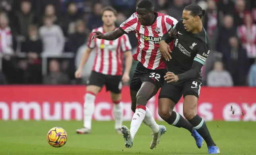
[[[127,149],[121,135],[116,134],[113,121],[93,121],[90,135],[78,135],[81,121],[0,121],[0,155],[202,155],[207,146],[196,147],[185,129],[167,127],[160,144],[149,149],[151,130],[143,123]],[[130,127],[130,122],[124,122]],[[222,155],[256,155],[256,122],[207,122],[213,140]],[[62,127],[68,133],[65,146],[54,148],[47,142],[47,132]]]

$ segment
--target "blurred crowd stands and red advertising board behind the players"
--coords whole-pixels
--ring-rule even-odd
[[[202,69],[198,113],[207,121],[256,121],[256,1],[153,0],[155,10],[176,19],[184,6],[198,3],[207,10],[203,24],[212,50]],[[102,25],[101,9],[118,11],[116,25],[136,9],[138,0],[1,0],[0,119],[82,120],[85,83],[94,53],[83,70],[74,72],[89,33]],[[44,19],[53,25],[45,30]],[[137,40],[129,34],[133,53]],[[133,62],[132,77],[137,62]],[[132,118],[128,83],[124,83],[124,119]],[[231,104],[233,108],[231,110]],[[148,104],[157,120],[157,96]],[[227,108],[228,107],[228,108]],[[96,99],[96,120],[111,120],[112,104],[103,89]],[[182,100],[176,110],[182,113]],[[233,112],[234,111],[234,114]]]

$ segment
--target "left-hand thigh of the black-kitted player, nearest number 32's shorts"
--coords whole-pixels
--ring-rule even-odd
[[[181,83],[164,82],[158,96],[158,113],[166,115],[172,111],[182,96]]]

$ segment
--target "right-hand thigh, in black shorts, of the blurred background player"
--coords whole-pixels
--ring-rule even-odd
[[[106,90],[114,94],[120,94],[122,91],[122,76],[106,75]]]

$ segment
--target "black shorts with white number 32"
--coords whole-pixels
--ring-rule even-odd
[[[159,89],[163,85],[166,72],[166,69],[147,69],[139,62],[131,79],[130,90],[139,91],[142,83],[146,81],[153,83]]]

